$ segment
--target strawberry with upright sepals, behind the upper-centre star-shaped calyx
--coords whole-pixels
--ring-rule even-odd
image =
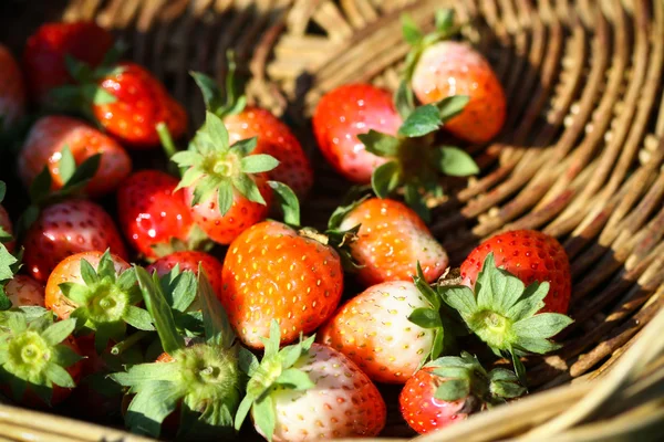
[[[203,91],[207,109],[222,118],[231,143],[257,137],[253,154],[267,154],[279,161],[279,166],[268,171],[270,179],[283,182],[299,198],[304,198],[313,185],[313,169],[300,141],[269,110],[257,106],[245,107],[246,97],[234,91],[237,87],[232,56],[229,57],[228,71],[225,103],[212,78],[199,72],[191,74]]]

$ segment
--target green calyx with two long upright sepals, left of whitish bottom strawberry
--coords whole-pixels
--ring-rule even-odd
[[[157,274],[151,277],[144,269],[134,269],[162,347],[170,358],[165,362],[135,365],[111,376],[135,394],[127,409],[127,428],[156,438],[164,419],[179,407],[178,438],[231,435],[232,415],[242,394],[239,346],[205,272],[199,267],[197,281],[205,336],[185,339]],[[185,304],[183,301],[181,305]]]

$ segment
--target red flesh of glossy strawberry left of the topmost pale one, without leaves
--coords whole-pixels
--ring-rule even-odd
[[[369,152],[357,135],[370,129],[396,135],[402,117],[387,91],[370,84],[347,84],[321,98],[312,123],[328,161],[346,179],[365,185],[387,159]]]

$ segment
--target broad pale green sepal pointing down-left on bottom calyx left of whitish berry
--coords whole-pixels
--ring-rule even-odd
[[[183,392],[173,382],[148,382],[129,403],[125,424],[133,433],[157,438],[162,422],[175,411],[181,397]]]

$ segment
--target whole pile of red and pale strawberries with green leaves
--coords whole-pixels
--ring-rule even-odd
[[[318,147],[356,188],[318,230],[299,203],[314,168],[247,104],[231,53],[225,85],[193,73],[193,128],[96,24],[44,24],[22,71],[0,46],[0,396],[154,438],[252,423],[304,441],[381,433],[385,383],[419,433],[526,393],[522,358],[571,323],[570,266],[522,230],[452,270],[428,229],[446,176],[479,172],[443,140],[486,143],[505,120],[500,83],[455,29],[447,11],[429,35],[405,18],[394,97],[347,84],[321,98]]]

